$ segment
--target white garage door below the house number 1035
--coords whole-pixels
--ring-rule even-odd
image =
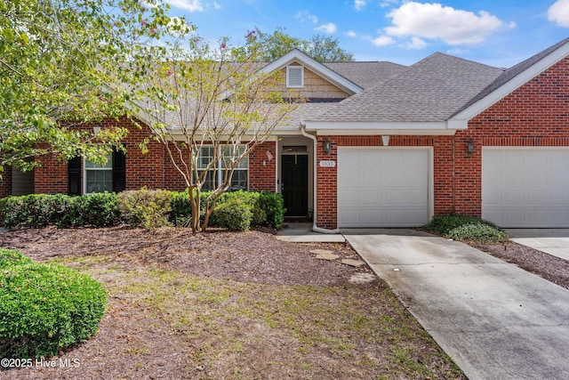
[[[338,148],[340,227],[429,222],[429,149]]]

